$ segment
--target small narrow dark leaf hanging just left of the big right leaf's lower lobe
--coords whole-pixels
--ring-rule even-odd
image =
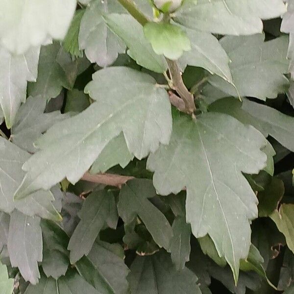
[[[177,217],[172,223],[171,257],[176,270],[183,270],[190,256],[191,226],[184,217]]]

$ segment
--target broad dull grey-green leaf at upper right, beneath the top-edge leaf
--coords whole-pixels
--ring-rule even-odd
[[[284,76],[289,66],[288,37],[267,42],[264,42],[264,38],[262,34],[222,38],[220,43],[231,60],[229,67],[236,88],[218,76],[211,76],[209,82],[228,96],[235,97],[250,96],[266,100],[286,92],[290,85]]]

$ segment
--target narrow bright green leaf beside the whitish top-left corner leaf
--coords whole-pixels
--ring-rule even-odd
[[[78,34],[80,30],[80,23],[85,11],[85,9],[75,11],[72,23],[62,42],[62,46],[65,51],[71,53],[75,57],[83,57],[83,51],[79,49]]]

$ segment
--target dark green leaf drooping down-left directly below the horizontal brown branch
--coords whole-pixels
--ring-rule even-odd
[[[105,190],[91,193],[84,201],[79,217],[81,221],[68,245],[72,264],[83,255],[88,255],[105,223],[116,228],[118,216],[113,194]],[[113,219],[116,221],[112,223]]]

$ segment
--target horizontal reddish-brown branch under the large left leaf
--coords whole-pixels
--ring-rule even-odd
[[[90,172],[85,172],[81,180],[120,188],[128,180],[131,180],[133,178],[134,178],[133,176],[113,174],[113,173],[91,174]]]

